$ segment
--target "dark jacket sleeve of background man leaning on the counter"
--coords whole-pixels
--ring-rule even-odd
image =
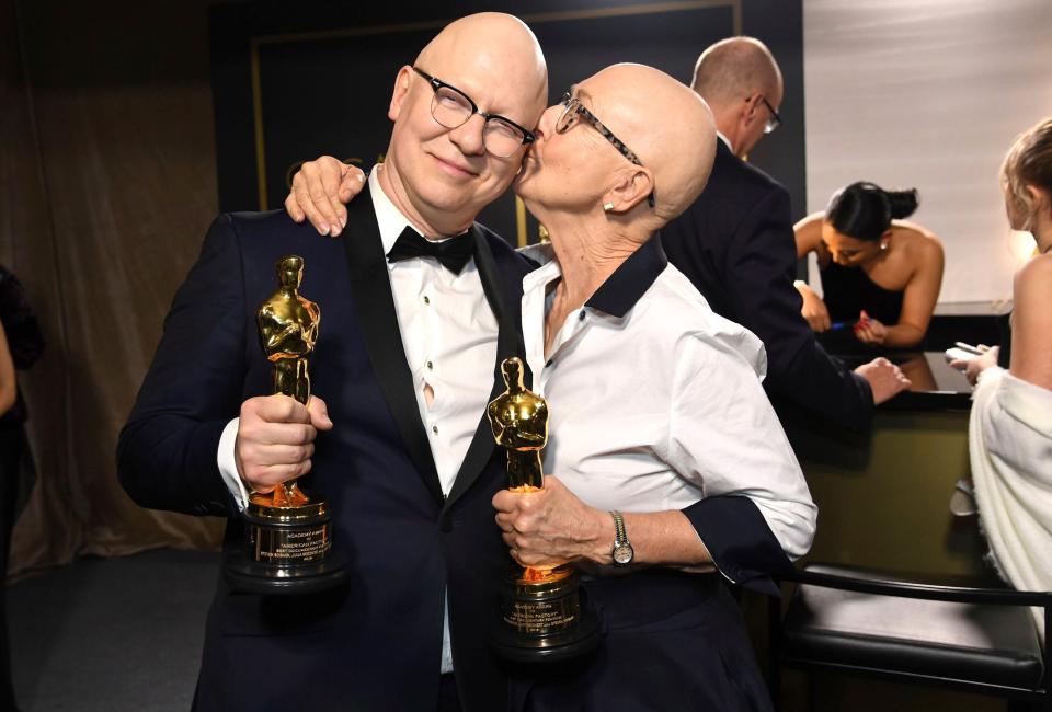
[[[773,186],[748,211],[725,261],[732,319],[767,348],[767,391],[793,405],[865,432],[873,411],[869,383],[830,356],[800,314],[792,286],[797,252],[789,194]]]

